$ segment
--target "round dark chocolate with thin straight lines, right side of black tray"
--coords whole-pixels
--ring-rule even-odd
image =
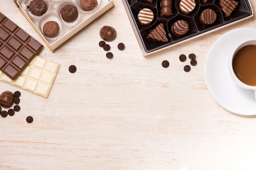
[[[200,14],[199,20],[204,25],[211,25],[216,22],[217,13],[210,8],[204,9]]]

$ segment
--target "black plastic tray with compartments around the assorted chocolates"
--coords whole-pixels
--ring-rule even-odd
[[[206,33],[220,26],[230,24],[232,22],[241,20],[253,14],[248,0],[236,0],[239,2],[238,7],[231,14],[229,18],[225,18],[219,7],[219,0],[209,0],[204,3],[202,0],[195,0],[196,6],[193,12],[184,14],[180,11],[178,3],[180,0],[173,0],[173,16],[161,16],[161,0],[153,0],[152,4],[148,4],[143,0],[125,0],[127,7],[135,23],[141,42],[146,52],[153,52],[155,50],[170,46],[180,41],[184,41],[196,35]],[[124,2],[124,1],[123,1]],[[125,3],[125,2],[124,2]],[[141,25],[137,19],[140,9],[148,8],[154,12],[155,19],[150,25]],[[199,16],[204,9],[213,9],[217,13],[217,20],[212,25],[205,26],[199,21]],[[128,11],[127,11],[128,12]],[[189,32],[183,36],[175,36],[171,31],[173,22],[177,20],[185,20],[189,23]],[[131,21],[132,22],[132,21]],[[159,23],[164,24],[168,42],[154,41],[147,38],[148,33],[155,28]]]

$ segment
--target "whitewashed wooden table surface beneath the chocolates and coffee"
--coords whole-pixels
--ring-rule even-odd
[[[0,12],[44,45],[40,56],[61,64],[48,98],[0,82],[1,92],[21,92],[21,110],[0,117],[0,169],[256,169],[256,116],[218,105],[204,79],[213,42],[234,28],[256,28],[255,17],[143,57],[123,3],[113,3],[52,53],[14,2],[0,1]],[[252,7],[256,11],[254,0]],[[113,59],[98,45],[104,25],[117,31],[109,43]],[[190,53],[198,64],[184,72],[189,60],[179,56]]]

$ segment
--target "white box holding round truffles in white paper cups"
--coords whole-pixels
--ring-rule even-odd
[[[114,7],[112,0],[13,1],[52,52]]]

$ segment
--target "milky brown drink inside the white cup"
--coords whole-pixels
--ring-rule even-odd
[[[243,83],[256,86],[256,45],[240,48],[232,62],[234,73]]]

